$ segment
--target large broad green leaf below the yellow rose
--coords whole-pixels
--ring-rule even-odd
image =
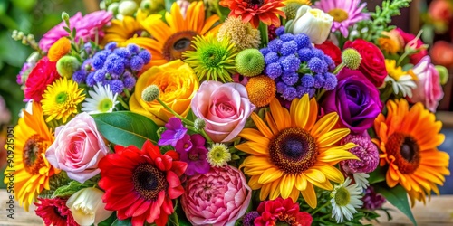
[[[151,119],[130,111],[92,115],[102,136],[120,146],[141,148],[146,140],[157,142],[159,127]]]

